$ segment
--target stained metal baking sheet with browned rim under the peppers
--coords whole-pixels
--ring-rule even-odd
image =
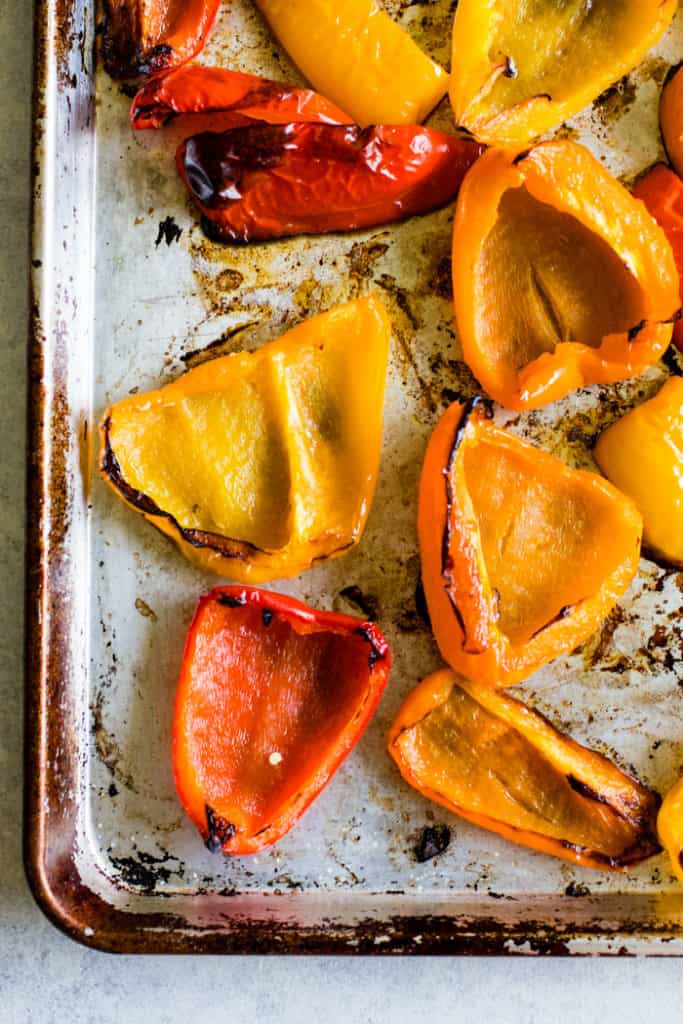
[[[450,0],[385,6],[447,62]],[[96,67],[92,3],[37,7],[26,855],[41,905],[75,938],[124,951],[683,953],[683,895],[664,856],[608,874],[506,844],[423,800],[385,753],[399,702],[439,664],[416,604],[422,456],[447,403],[476,391],[453,325],[453,209],[348,236],[214,245],[174,173],[172,131],[133,136],[128,98]],[[661,157],[657,98],[682,54],[679,15],[636,73],[560,131],[631,181]],[[297,79],[249,0],[223,5],[202,59]],[[432,121],[451,124],[446,102]],[[370,290],[394,336],[369,525],[352,553],[275,588],[350,611],[341,592],[359,588],[394,669],[300,824],[266,853],[215,857],[176,800],[170,724],[185,629],[217,580],[100,483],[96,424],[135,389]],[[600,430],[666,373],[498,418],[591,467]],[[660,791],[683,764],[682,591],[682,573],[643,560],[599,633],[524,688]],[[451,846],[418,863],[422,830],[440,822]]]

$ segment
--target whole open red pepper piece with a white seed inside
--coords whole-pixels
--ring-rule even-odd
[[[389,667],[372,623],[249,587],[201,598],[173,767],[209,850],[256,853],[290,830],[362,734]]]

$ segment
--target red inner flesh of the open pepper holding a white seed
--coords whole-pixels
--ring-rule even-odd
[[[214,621],[212,621],[214,620]],[[297,630],[260,608],[206,605],[179,742],[214,811],[251,835],[314,775],[368,687],[361,637]],[[280,754],[273,765],[270,757]]]

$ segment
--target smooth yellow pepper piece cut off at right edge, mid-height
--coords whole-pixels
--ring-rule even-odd
[[[670,377],[654,398],[605,430],[594,454],[638,506],[645,546],[683,566],[683,378]]]

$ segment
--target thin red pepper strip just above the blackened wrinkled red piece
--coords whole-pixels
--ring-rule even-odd
[[[271,125],[351,123],[347,114],[311,89],[199,65],[187,65],[145,82],[133,99],[130,123],[137,129],[161,128],[184,114],[191,115],[193,122],[199,115],[210,116],[201,129],[208,131],[225,131],[253,121]]]

